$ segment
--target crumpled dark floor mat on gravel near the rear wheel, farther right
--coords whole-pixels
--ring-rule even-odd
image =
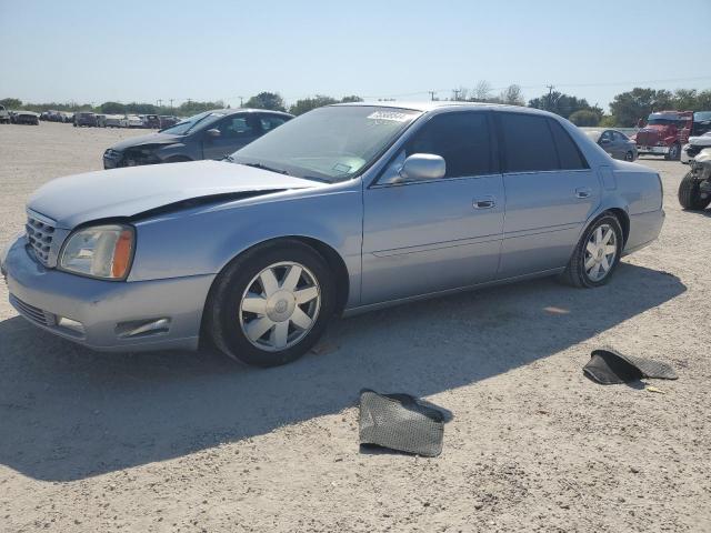
[[[593,350],[582,371],[592,381],[603,385],[631,383],[642,378],[677,379],[674,369],[665,363],[624,355],[610,348]]]

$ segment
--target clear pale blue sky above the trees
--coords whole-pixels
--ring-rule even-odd
[[[487,80],[607,110],[637,86],[711,89],[711,0],[678,2],[0,0],[0,98],[412,101]]]

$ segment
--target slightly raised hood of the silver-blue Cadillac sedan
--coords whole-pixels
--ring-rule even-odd
[[[93,220],[129,218],[194,199],[234,199],[287,189],[323,187],[226,161],[194,161],[102,170],[52,180],[32,194],[28,209],[71,230]]]

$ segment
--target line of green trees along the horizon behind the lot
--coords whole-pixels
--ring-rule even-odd
[[[431,93],[433,100],[438,100]],[[244,108],[270,109],[273,111],[288,111],[291,114],[302,114],[322,105],[340,102],[360,102],[363,99],[353,94],[341,99],[326,94],[302,98],[287,105],[287,102],[279,92],[260,92],[249,98]],[[383,99],[388,100],[388,99]],[[602,125],[629,128],[638,123],[639,119],[645,119],[651,112],[661,110],[679,111],[709,111],[711,110],[711,89],[699,91],[697,89],[667,89],[634,88],[631,91],[617,94],[610,102],[610,112],[605,113],[597,104],[591,105],[584,98],[565,94],[559,91],[549,92],[533,98],[528,102],[523,98],[521,88],[511,84],[494,93],[488,81],[478,82],[472,89],[460,87],[452,91],[451,97],[444,100],[465,102],[505,103],[510,105],[528,105],[530,108],[543,109],[560,114],[578,125]],[[209,111],[211,109],[224,109],[223,101],[197,101],[188,100],[180,105],[157,105],[146,102],[103,102],[99,105],[91,103],[26,103],[17,98],[6,98],[0,100],[0,104],[7,109],[24,109],[29,111],[42,112],[48,110],[58,111],[94,111],[106,114],[178,114],[190,117],[196,113]]]

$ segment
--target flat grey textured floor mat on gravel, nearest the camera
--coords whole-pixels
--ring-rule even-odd
[[[409,394],[360,393],[360,443],[434,457],[442,453],[444,413]]]

